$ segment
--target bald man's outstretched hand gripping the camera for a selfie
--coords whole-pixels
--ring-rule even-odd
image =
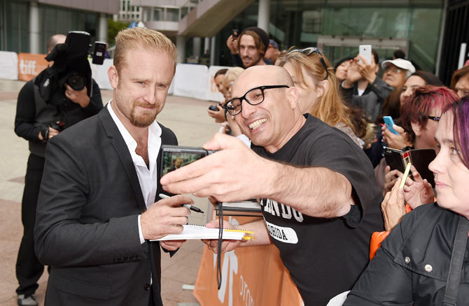
[[[272,166],[265,165],[269,161],[241,140],[221,133],[216,133],[204,149],[219,152],[167,173],[160,180],[163,189],[172,194],[213,196],[223,202],[265,196],[258,189],[272,178],[267,173]]]

